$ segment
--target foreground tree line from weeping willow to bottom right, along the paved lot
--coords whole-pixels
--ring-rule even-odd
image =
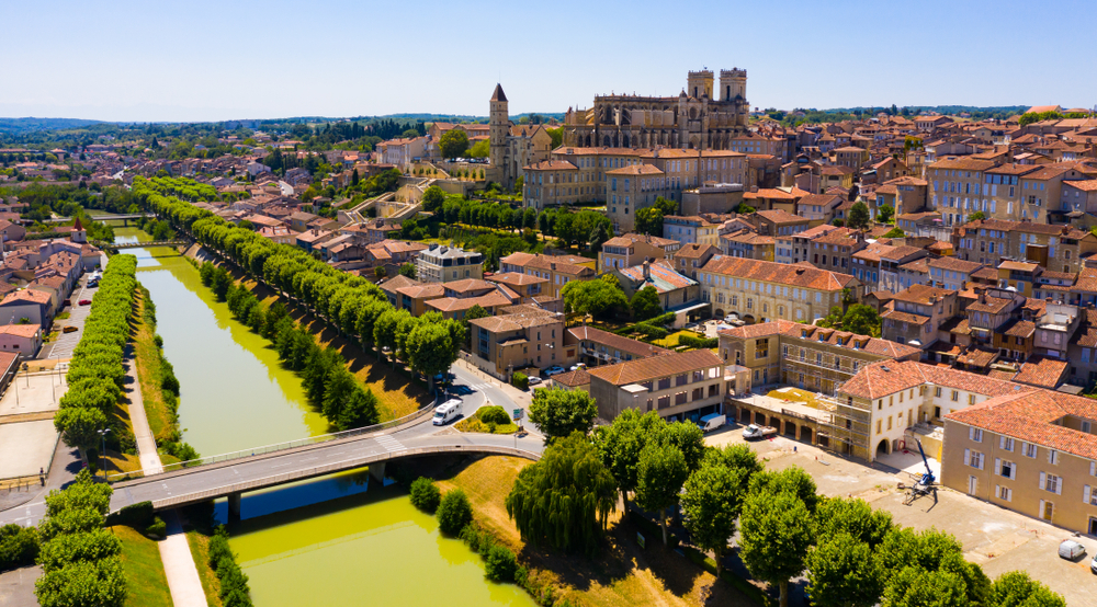
[[[902,528],[862,500],[817,494],[800,468],[767,471],[746,445],[705,447],[690,423],[626,410],[590,433],[593,399],[539,390],[530,420],[550,445],[523,469],[506,505],[523,539],[559,550],[598,550],[620,492],[663,527],[681,507],[689,540],[715,556],[717,575],[731,538],[758,580],[780,588],[807,571],[812,603],[824,607],[1063,606],[1020,572],[991,582],[951,535]]]

